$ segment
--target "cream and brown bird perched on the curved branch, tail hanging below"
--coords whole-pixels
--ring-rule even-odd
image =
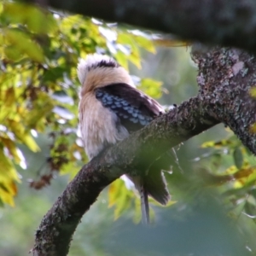
[[[113,57],[86,55],[79,60],[78,77],[79,126],[89,160],[165,113],[158,102],[137,90],[130,74]],[[126,175],[141,197],[143,224],[150,223],[148,195],[161,205],[170,200],[162,172],[168,165],[168,154],[164,154],[143,174]]]

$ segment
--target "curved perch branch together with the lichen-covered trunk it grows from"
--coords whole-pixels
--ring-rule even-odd
[[[256,136],[251,129],[256,122],[256,100],[249,93],[256,84],[254,57],[238,49],[216,48],[206,53],[194,52],[194,60],[199,67],[198,96],[85,165],[44,216],[36,233],[33,255],[67,255],[80,218],[102,189],[213,125],[222,122],[230,126],[256,154]]]

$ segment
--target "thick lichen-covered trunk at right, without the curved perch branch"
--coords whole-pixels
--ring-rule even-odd
[[[228,125],[241,142],[256,154],[256,60],[239,49],[215,48],[194,54],[199,66],[199,97],[212,116]]]

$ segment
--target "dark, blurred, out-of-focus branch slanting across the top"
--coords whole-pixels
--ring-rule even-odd
[[[37,3],[37,0],[26,0]],[[46,1],[45,1],[46,2]],[[255,51],[254,0],[48,0],[57,9]]]

